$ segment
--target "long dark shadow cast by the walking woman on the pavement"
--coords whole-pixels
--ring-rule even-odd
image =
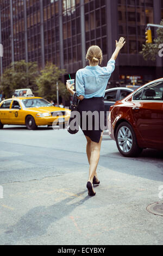
[[[77,194],[80,196],[87,190]],[[77,206],[82,205],[91,197],[86,196],[84,199],[70,204],[74,197],[68,197],[61,202],[55,203],[51,206],[37,206],[27,212],[15,225],[4,225],[0,228],[7,229],[0,235],[1,245],[15,245],[21,240],[32,239],[36,236],[44,235],[48,227],[57,222],[61,218],[69,215]],[[55,230],[55,228],[53,229]],[[56,236],[57,239],[57,236]],[[55,242],[55,241],[54,241]]]

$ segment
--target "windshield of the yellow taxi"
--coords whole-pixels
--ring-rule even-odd
[[[26,99],[22,100],[24,107],[53,107],[51,103],[44,99]]]

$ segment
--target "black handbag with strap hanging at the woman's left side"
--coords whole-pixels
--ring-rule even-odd
[[[77,115],[74,113],[74,111],[78,112],[78,103],[79,103],[79,100],[77,99],[77,94],[75,93],[73,96],[72,105],[70,107],[71,115],[67,125],[67,131],[71,134],[76,134],[79,131],[79,122],[78,122],[79,120]],[[73,121],[74,119],[76,119],[76,121]],[[76,128],[74,129],[74,127]]]

